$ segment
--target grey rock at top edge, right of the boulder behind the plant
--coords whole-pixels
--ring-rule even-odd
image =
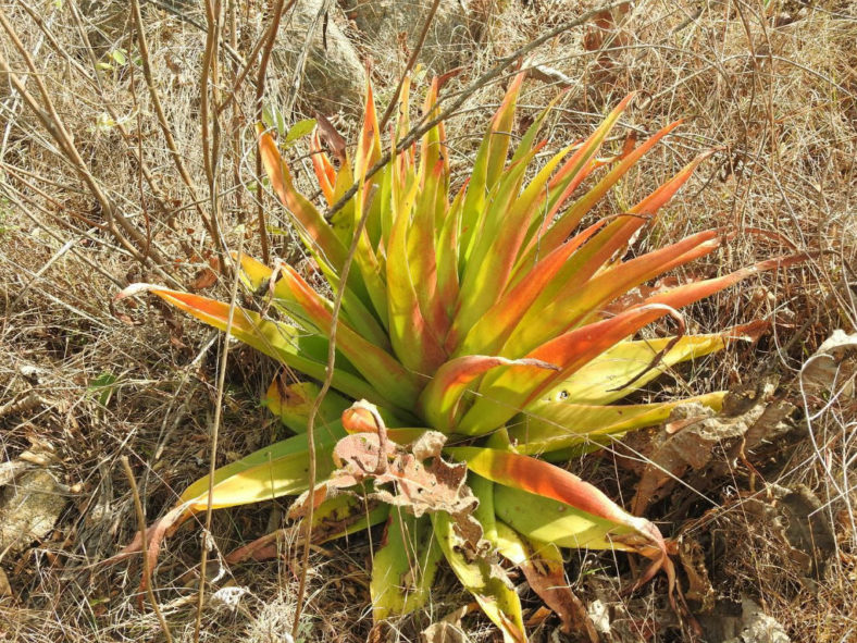
[[[408,47],[417,44],[431,0],[345,0],[343,9],[355,21],[369,42],[370,50],[384,55],[377,61],[390,72],[407,55],[398,45],[399,35],[407,34]],[[419,61],[436,74],[460,65],[472,50],[474,39],[464,0],[442,0],[432,21]]]

